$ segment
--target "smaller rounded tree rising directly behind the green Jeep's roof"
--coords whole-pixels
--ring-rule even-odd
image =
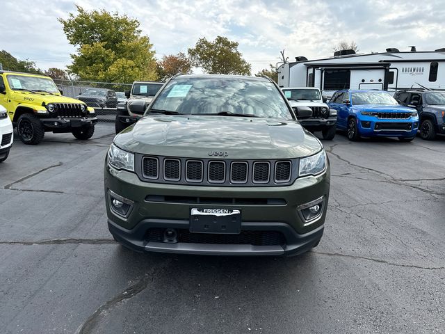
[[[218,36],[213,42],[200,38],[195,47],[188,49],[188,55],[193,66],[210,74],[250,75],[250,64],[238,51],[238,42],[225,37]]]

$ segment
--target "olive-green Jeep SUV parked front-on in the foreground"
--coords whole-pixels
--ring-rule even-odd
[[[143,252],[310,250],[323,234],[330,167],[297,120],[308,112],[266,77],[173,77],[108,150],[111,234]]]

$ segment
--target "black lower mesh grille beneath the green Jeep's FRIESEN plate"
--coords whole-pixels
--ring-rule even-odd
[[[150,228],[147,241],[162,242],[163,228]],[[188,230],[178,230],[178,242],[186,244],[223,244],[223,245],[253,245],[277,246],[286,244],[286,239],[277,231],[243,230],[240,234],[191,233]]]

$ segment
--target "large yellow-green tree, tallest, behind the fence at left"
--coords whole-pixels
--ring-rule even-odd
[[[70,44],[70,72],[82,80],[131,83],[156,80],[156,59],[148,36],[141,35],[139,22],[127,15],[106,10],[84,10],[76,6],[76,15],[59,18]]]

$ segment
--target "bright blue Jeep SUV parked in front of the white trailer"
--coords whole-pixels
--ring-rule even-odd
[[[419,128],[415,109],[399,105],[380,90],[339,90],[332,95],[329,106],[337,110],[337,129],[346,130],[350,141],[360,136],[412,141]]]

